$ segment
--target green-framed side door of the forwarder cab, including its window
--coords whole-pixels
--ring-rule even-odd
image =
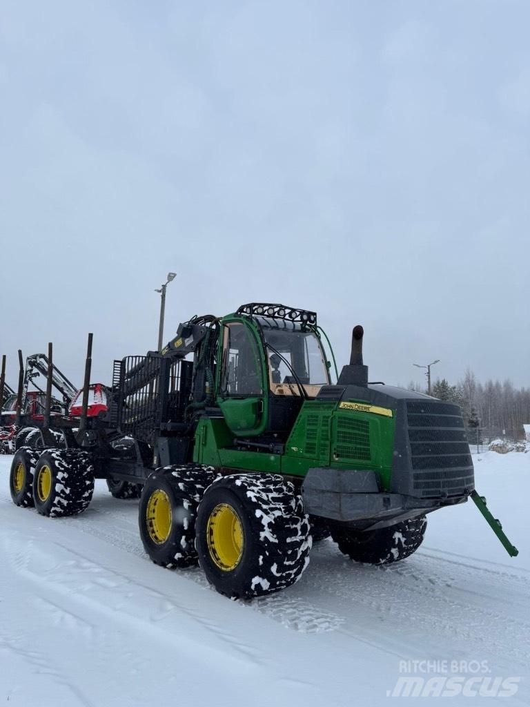
[[[261,434],[266,426],[266,395],[261,344],[247,322],[223,325],[218,406],[236,436]]]

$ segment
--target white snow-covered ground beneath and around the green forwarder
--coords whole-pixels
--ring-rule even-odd
[[[486,676],[520,678],[508,703],[530,703],[530,453],[474,460],[517,558],[467,503],[430,515],[401,563],[355,565],[326,540],[297,585],[243,603],[199,569],[149,562],[137,501],[100,481],[77,518],[16,508],[0,457],[0,703],[365,707],[387,703],[404,675],[461,676],[470,695]],[[403,662],[414,660],[437,662]],[[507,701],[466,697],[461,683],[452,704]]]

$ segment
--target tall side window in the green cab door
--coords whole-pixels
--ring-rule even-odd
[[[240,322],[225,325],[220,393],[225,397],[263,395],[257,341]]]

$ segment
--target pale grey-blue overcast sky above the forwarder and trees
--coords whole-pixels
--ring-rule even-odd
[[[530,385],[526,0],[0,5],[0,353],[81,385],[195,313],[319,312],[372,380]]]

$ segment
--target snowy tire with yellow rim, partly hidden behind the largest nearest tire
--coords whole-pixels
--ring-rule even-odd
[[[199,464],[156,469],[148,476],[138,521],[143,548],[154,563],[170,569],[196,565],[197,506],[214,478],[213,467]]]

